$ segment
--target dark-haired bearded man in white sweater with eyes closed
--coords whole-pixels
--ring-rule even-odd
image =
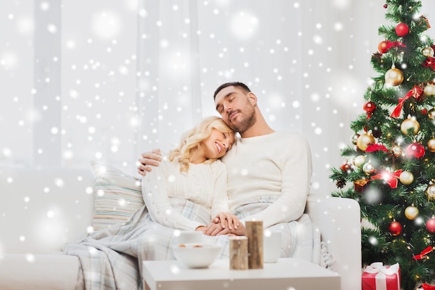
[[[242,225],[223,228],[215,219],[202,230],[208,235],[243,235],[245,221],[263,221],[263,228],[283,232],[286,256],[290,257],[297,243],[297,220],[304,213],[309,193],[309,144],[298,133],[272,130],[258,108],[256,95],[243,83],[220,85],[214,99],[224,122],[240,133],[240,139],[222,162],[228,171],[230,211]],[[158,150],[142,154],[138,160],[142,176],[152,166],[158,166],[158,155]]]

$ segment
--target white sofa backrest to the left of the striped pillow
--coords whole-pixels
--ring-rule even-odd
[[[0,255],[60,250],[92,224],[89,169],[0,167]]]

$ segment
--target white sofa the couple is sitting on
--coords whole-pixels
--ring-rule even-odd
[[[92,170],[0,167],[0,289],[76,289],[79,259],[51,255],[91,225]],[[341,289],[361,289],[361,223],[352,199],[309,196],[306,212],[334,257]]]

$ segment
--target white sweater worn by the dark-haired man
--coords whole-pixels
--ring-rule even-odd
[[[227,165],[231,212],[248,203],[276,199],[243,223],[255,219],[268,228],[298,219],[304,212],[312,165],[309,144],[299,133],[240,138],[222,162]]]

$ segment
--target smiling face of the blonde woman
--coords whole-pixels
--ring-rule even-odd
[[[220,158],[227,154],[233,143],[233,133],[222,133],[213,129],[211,135],[202,142],[204,157],[206,159]]]

